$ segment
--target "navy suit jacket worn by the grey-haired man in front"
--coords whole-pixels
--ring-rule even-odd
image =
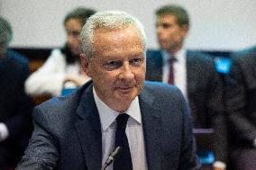
[[[139,102],[149,170],[197,169],[182,94],[172,85],[146,83]],[[35,108],[33,120],[35,130],[17,170],[101,168],[101,125],[92,82],[67,97],[42,103]]]

